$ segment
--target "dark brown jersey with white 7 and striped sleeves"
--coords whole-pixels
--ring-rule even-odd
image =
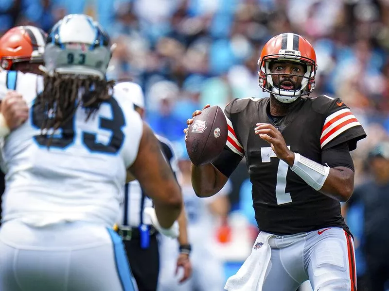
[[[328,148],[345,143],[350,151],[356,148],[356,142],[366,137],[361,124],[339,98],[324,95],[299,98],[293,111],[274,123],[268,115],[269,101],[270,97],[235,99],[226,106],[228,140],[212,164],[230,176],[246,158],[260,230],[280,235],[334,226],[348,230],[339,201],[319,193],[295,174],[254,128],[256,123],[273,124],[290,150],[325,163],[322,153]]]

